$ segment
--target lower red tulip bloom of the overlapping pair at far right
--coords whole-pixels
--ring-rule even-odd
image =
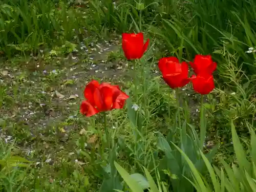
[[[193,75],[191,77],[195,92],[201,95],[209,94],[214,88],[214,76],[209,74]]]

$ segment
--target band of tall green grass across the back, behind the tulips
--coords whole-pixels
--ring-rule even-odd
[[[98,1],[87,8],[67,6],[68,2],[9,1],[0,6],[0,51],[37,51],[42,45],[71,41],[83,29],[97,33],[144,31],[157,37],[162,51],[191,60],[195,54],[219,54],[225,46],[238,53],[243,69],[255,73],[253,54],[245,51],[256,45],[256,3],[248,1]],[[179,48],[179,49],[178,49]],[[225,73],[222,65],[219,70]]]

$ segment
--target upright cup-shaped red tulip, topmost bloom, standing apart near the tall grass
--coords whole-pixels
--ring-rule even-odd
[[[123,33],[122,34],[122,48],[127,59],[139,59],[146,51],[150,39],[144,44],[143,33]]]

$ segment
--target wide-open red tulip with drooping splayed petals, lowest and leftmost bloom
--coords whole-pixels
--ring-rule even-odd
[[[87,84],[84,97],[87,100],[82,101],[80,112],[88,117],[103,111],[122,109],[125,100],[129,98],[118,86],[105,82],[99,84],[96,80]]]

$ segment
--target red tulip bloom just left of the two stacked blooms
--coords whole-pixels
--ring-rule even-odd
[[[187,63],[179,63],[176,57],[161,58],[158,67],[163,74],[164,81],[172,89],[184,87],[190,81]]]

